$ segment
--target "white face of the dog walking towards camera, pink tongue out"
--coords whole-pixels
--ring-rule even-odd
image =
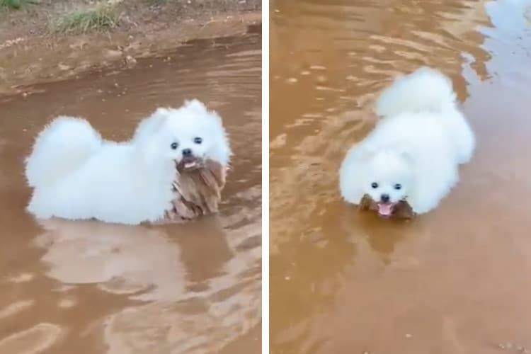
[[[404,152],[384,150],[366,156],[364,167],[363,192],[375,202],[380,216],[391,217],[411,190],[411,159]]]

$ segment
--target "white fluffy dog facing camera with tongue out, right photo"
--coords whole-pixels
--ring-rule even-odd
[[[382,92],[376,113],[374,130],[343,161],[341,195],[357,205],[368,195],[382,217],[403,201],[415,214],[433,210],[474,152],[452,82],[435,69],[418,69]]]

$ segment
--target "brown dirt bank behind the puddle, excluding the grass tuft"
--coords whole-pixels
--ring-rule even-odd
[[[135,58],[164,55],[189,40],[261,30],[260,0],[112,2],[119,25],[86,33],[57,32],[51,23],[93,4],[87,1],[42,0],[0,10],[0,95],[28,96],[32,85],[102,67],[134,66]]]

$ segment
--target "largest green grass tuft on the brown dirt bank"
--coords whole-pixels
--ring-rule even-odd
[[[52,23],[52,28],[57,32],[71,33],[108,30],[118,25],[120,25],[120,16],[114,6],[104,2],[66,13]]]

